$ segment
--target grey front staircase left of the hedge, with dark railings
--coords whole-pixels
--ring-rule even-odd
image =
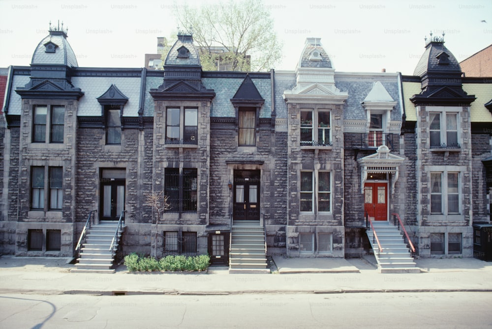
[[[80,250],[74,273],[115,273],[114,258],[109,248],[118,227],[118,220],[101,221],[93,225],[86,235],[86,243]],[[115,250],[118,248],[122,231],[118,232]]]

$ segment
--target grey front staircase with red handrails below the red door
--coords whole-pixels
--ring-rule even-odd
[[[373,239],[372,230],[367,231],[369,242],[374,250],[380,273],[420,273],[410,255],[410,250],[403,240],[403,235],[397,226],[387,221],[372,221],[382,252],[378,251],[377,242]]]

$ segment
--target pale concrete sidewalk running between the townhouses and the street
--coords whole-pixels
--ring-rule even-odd
[[[363,259],[274,257],[278,274],[70,273],[66,258],[0,257],[0,294],[180,294],[492,292],[492,263],[474,258],[418,259],[420,274],[380,274]],[[305,273],[307,272],[307,273]]]

